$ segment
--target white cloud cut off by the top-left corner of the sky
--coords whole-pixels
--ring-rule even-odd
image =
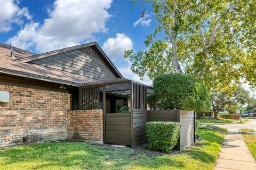
[[[19,2],[14,0],[2,0],[0,5],[0,32],[7,33],[12,29],[12,23],[22,25],[22,17],[31,20],[27,7],[18,6]]]

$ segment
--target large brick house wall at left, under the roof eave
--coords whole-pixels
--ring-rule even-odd
[[[0,148],[67,138],[70,94],[7,85],[0,90],[10,93],[10,102],[0,106]]]

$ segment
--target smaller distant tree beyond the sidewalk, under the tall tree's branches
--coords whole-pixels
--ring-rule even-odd
[[[251,100],[249,91],[246,91],[242,85],[238,85],[237,90],[232,94],[222,91],[215,91],[210,94],[212,109],[214,112],[214,118],[217,118],[217,114],[221,109],[231,108],[237,109],[238,106],[249,103]],[[236,108],[234,108],[234,106]],[[233,111],[234,111],[233,110]]]

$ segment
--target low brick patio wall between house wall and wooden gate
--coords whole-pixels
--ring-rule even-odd
[[[103,141],[103,112],[99,110],[76,110],[67,113],[67,137],[90,141]]]

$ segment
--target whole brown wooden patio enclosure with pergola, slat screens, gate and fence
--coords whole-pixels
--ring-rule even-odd
[[[137,147],[147,142],[146,122],[180,122],[177,149],[195,141],[195,114],[185,110],[147,110],[147,91],[151,87],[133,80],[116,78],[79,86],[79,109],[103,110],[103,142]],[[130,113],[106,113],[106,94],[130,98]],[[128,99],[127,99],[128,100]]]

